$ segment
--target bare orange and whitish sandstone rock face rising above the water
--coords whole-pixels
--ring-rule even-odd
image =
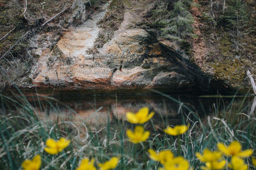
[[[172,42],[154,36],[154,31],[132,28],[145,6],[154,1],[139,1],[136,10],[126,10],[124,20],[102,48],[95,46],[100,18],[108,4],[97,9],[86,22],[70,27],[51,45],[49,34],[33,38],[33,53],[40,55],[30,77],[36,87],[61,87],[63,90],[95,89],[191,89],[206,88],[207,78]]]

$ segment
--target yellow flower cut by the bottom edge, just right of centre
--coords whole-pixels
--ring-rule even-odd
[[[164,168],[158,170],[188,170],[189,162],[183,157],[175,157],[164,164]]]

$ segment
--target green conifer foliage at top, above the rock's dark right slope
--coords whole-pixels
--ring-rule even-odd
[[[182,41],[193,36],[193,17],[189,13],[191,0],[160,1],[152,11],[153,27],[160,27],[164,38]]]

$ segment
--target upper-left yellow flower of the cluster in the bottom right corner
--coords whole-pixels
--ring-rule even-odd
[[[212,162],[212,161],[220,160],[221,156],[222,156],[221,152],[211,152],[211,150],[208,150],[207,148],[204,150],[203,155],[196,152],[196,157],[201,162]]]

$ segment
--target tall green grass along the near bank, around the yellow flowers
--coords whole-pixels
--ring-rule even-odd
[[[79,122],[69,122],[61,118],[61,113],[54,120],[42,119],[42,116],[51,116],[49,110],[58,111],[54,99],[49,98],[48,105],[44,106],[40,97],[35,97],[33,101],[39,106],[38,110],[24,96],[0,95],[0,169],[21,169],[22,162],[36,154],[42,157],[41,169],[76,169],[84,157],[104,162],[113,156],[120,157],[116,169],[157,169],[161,165],[148,158],[148,148],[157,151],[170,149],[175,156],[183,156],[191,166],[200,169],[201,164],[195,153],[202,153],[205,148],[215,150],[219,142],[228,145],[236,140],[241,142],[243,149],[256,148],[255,115],[244,113],[242,104],[239,111],[234,110],[232,103],[222,109],[216,105],[212,115],[200,118],[186,104],[171,96],[161,95],[179,104],[182,124],[190,124],[189,131],[182,135],[180,143],[176,137],[163,132],[163,128],[169,124],[161,114],[159,122],[150,120],[145,124],[150,138],[134,145],[125,134],[126,129],[131,129],[133,125],[125,121],[108,118],[106,125],[95,125],[81,118]],[[67,109],[76,114],[68,106]],[[44,152],[48,138],[61,137],[71,140],[63,152],[57,155]],[[180,154],[178,145],[181,145]],[[250,161],[246,159],[247,164]]]

